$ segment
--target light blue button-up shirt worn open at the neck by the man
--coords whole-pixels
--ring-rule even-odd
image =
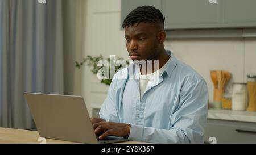
[[[151,143],[203,143],[207,122],[208,90],[191,67],[171,56],[159,80],[140,97],[139,69],[115,74],[102,104],[100,117],[129,123],[129,139]],[[126,78],[124,78],[126,77]]]

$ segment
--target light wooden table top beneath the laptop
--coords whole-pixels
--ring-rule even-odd
[[[38,131],[27,131],[23,129],[0,128],[0,144],[40,144]],[[46,139],[47,144],[77,144],[72,141]],[[145,144],[137,141],[125,141],[119,144]]]

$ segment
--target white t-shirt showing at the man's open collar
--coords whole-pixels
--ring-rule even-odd
[[[168,64],[168,62],[170,60],[171,60],[171,58],[169,58],[169,60],[166,62],[166,64],[164,64],[162,66],[162,68],[160,68],[159,70],[156,70],[156,72],[154,72],[154,73],[142,75],[141,72],[139,72],[139,74],[140,74],[139,83],[140,83],[141,99],[142,99],[145,91],[147,90],[147,87],[150,86],[152,82],[154,82],[155,78],[159,78],[160,74],[162,74],[163,70],[166,68],[166,65]]]

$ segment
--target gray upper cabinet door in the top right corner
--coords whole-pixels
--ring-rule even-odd
[[[255,27],[255,0],[224,0],[222,27]]]

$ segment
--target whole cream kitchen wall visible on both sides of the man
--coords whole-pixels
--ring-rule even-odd
[[[86,8],[84,55],[102,54],[106,58],[116,55],[128,59],[124,31],[120,30],[121,1],[88,0]],[[213,100],[210,70],[232,73],[229,91],[232,82],[246,82],[246,74],[256,74],[256,39],[174,39],[166,40],[165,47],[204,77],[210,101]],[[108,86],[100,84],[88,67],[84,68],[82,80],[87,106],[100,107]]]

